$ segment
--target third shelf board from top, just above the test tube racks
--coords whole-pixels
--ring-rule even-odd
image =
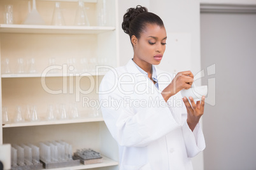
[[[24,126],[43,126],[43,125],[53,125],[53,124],[72,124],[72,123],[82,123],[82,122],[102,122],[102,121],[104,121],[103,117],[87,117],[87,118],[70,119],[70,120],[21,122],[21,123],[13,123],[13,124],[3,124],[3,128],[24,127]]]

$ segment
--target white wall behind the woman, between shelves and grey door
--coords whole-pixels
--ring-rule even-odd
[[[118,15],[119,15],[119,25],[123,20],[125,11],[128,8],[135,7],[140,4],[146,6],[149,11],[156,13],[162,18],[164,25],[166,26],[167,32],[179,32],[191,35],[191,51],[190,55],[187,57],[189,63],[189,69],[192,70],[193,74],[196,74],[201,70],[201,56],[200,56],[200,5],[199,1],[179,1],[179,0],[120,0],[118,1]],[[167,35],[168,36],[168,35]],[[120,65],[125,65],[127,61],[132,58],[133,51],[129,36],[120,29],[119,33],[120,42]],[[168,48],[168,39],[167,39]],[[170,49],[171,50],[171,49]],[[173,58],[164,56],[160,64],[160,69],[170,70],[170,66],[167,65],[169,62],[173,61]],[[183,63],[176,63],[182,67]],[[196,84],[201,84],[201,80],[198,80]],[[194,169],[203,170],[203,152],[197,157],[192,159]]]

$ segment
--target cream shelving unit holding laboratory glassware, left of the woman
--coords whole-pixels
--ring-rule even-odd
[[[97,13],[104,0],[85,0],[89,7],[90,27],[75,26],[73,20],[77,7],[76,0],[60,0],[64,8],[66,26],[50,25],[54,9],[53,0],[37,0],[36,8],[46,25],[22,25],[27,15],[28,0],[3,0],[4,5],[12,4],[13,25],[3,24],[0,15],[0,58],[1,58],[1,102],[0,144],[1,143],[38,143],[39,141],[64,140],[79,148],[92,148],[100,152],[103,162],[58,169],[118,169],[118,147],[106,128],[103,117],[92,117],[89,101],[97,101],[97,89],[106,73],[101,71],[82,71],[84,58],[90,67],[103,63],[90,62],[108,58],[106,65],[117,67],[118,63],[118,16],[117,0],[106,3],[107,23],[97,25]],[[4,72],[6,58],[10,60],[10,73]],[[17,60],[24,60],[24,73],[17,73]],[[29,61],[34,58],[36,73],[29,73]],[[45,72],[49,59],[55,58],[55,65],[61,66],[59,72]],[[68,63],[72,59],[75,63]],[[106,60],[104,60],[106,61]],[[95,64],[95,65],[94,65]],[[75,65],[76,72],[64,70],[64,65]],[[44,82],[42,82],[44,81]],[[43,86],[43,83],[45,86]],[[49,92],[49,90],[50,92]],[[91,90],[90,90],[91,89]],[[51,91],[60,91],[52,93]],[[84,100],[86,99],[86,100]],[[15,107],[20,106],[24,114],[26,105],[36,105],[39,117],[45,117],[47,105],[76,103],[82,115],[80,119],[55,121],[20,122],[3,124],[2,107],[8,108],[11,120],[15,117]],[[53,170],[53,169],[52,169]]]

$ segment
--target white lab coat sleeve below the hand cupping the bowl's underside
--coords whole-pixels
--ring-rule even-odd
[[[182,131],[185,145],[187,148],[188,157],[195,157],[199,152],[203,151],[205,148],[204,134],[200,127],[200,124],[197,123],[194,131],[192,132],[187,124],[187,109],[183,108],[185,112],[181,115],[182,117]]]

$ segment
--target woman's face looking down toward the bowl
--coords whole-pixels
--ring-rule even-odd
[[[145,30],[141,32],[139,39],[135,36],[132,37],[134,60],[139,62],[141,66],[147,63],[158,65],[166,50],[166,39],[166,29],[164,26],[147,24]]]

